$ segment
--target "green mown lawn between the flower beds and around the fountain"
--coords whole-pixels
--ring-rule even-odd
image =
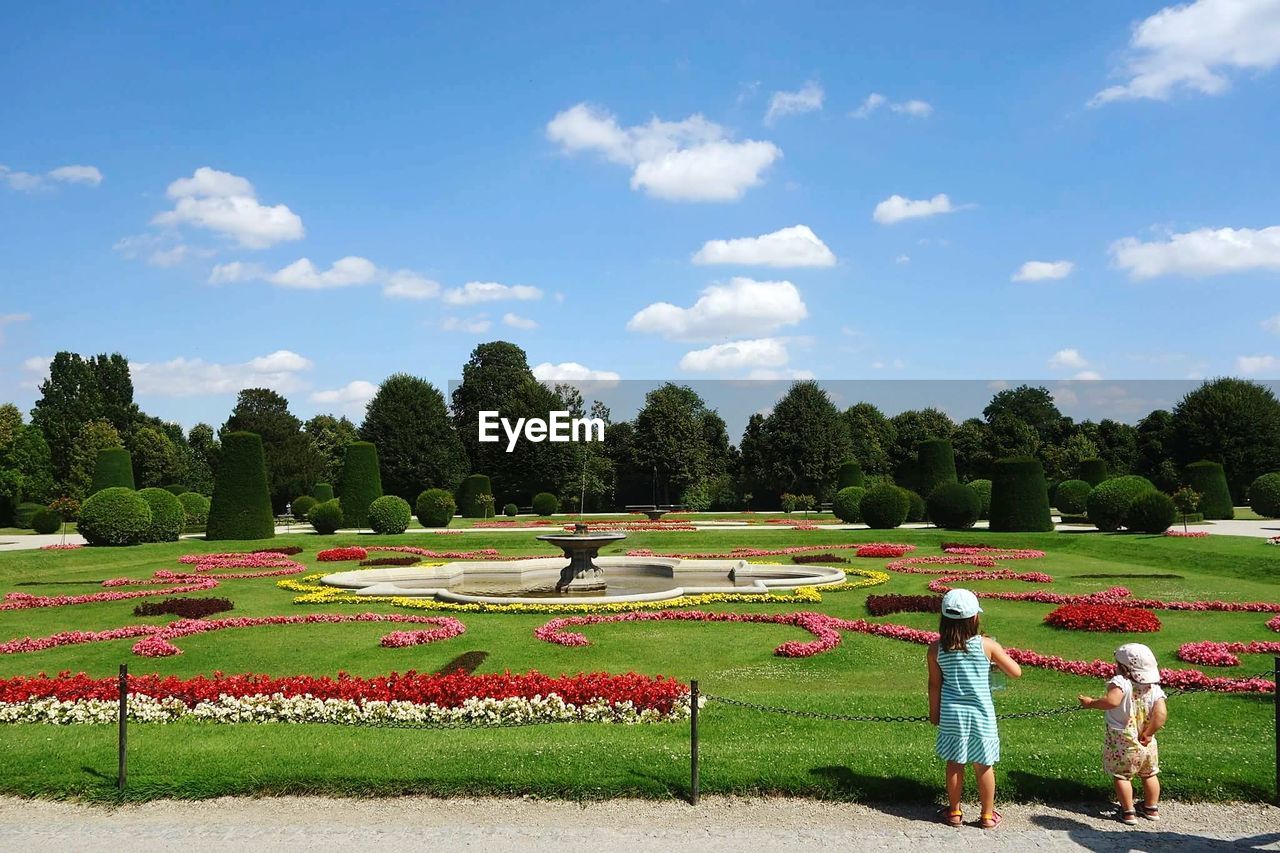
[[[349,543],[407,543],[440,549],[498,547],[503,553],[550,553],[526,533],[466,537],[379,538],[311,534],[278,537],[271,544],[300,544],[297,560],[312,564],[321,547]],[[938,553],[943,540],[1036,547],[1044,560],[1007,564],[1046,571],[1056,592],[1089,592],[1121,584],[1157,598],[1275,601],[1280,548],[1261,539],[1211,537],[1176,540],[1093,533],[954,534],[897,532],[634,533],[627,547],[667,551],[722,551],[837,542],[897,540]],[[122,549],[6,553],[0,592],[77,594],[97,592],[97,581],[143,578],[177,569],[192,551],[248,549],[255,543],[141,546]],[[266,543],[262,543],[266,544]],[[609,553],[611,551],[605,551]],[[879,567],[883,560],[859,560]],[[324,564],[321,564],[324,565]],[[1103,578],[1083,575],[1110,575]],[[1135,575],[1135,576],[1134,576]],[[1155,575],[1178,575],[1176,578]],[[929,578],[893,575],[881,587],[828,593],[814,610],[865,616],[868,592],[922,593]],[[1025,590],[1016,581],[988,581],[984,589]],[[389,605],[292,605],[292,593],[269,580],[229,580],[205,593],[236,602],[228,615],[300,613],[329,610],[393,610]],[[147,601],[147,599],[143,599]],[[137,602],[108,602],[0,613],[0,639],[59,630],[102,630],[125,624],[164,624],[133,616]],[[986,602],[986,629],[1009,646],[1070,658],[1108,658],[1125,635],[1064,633],[1041,624],[1047,605]],[[788,605],[731,605],[717,610],[782,612]],[[402,611],[407,612],[407,611]],[[413,611],[421,612],[421,611]],[[1160,611],[1165,628],[1143,635],[1165,666],[1179,644],[1197,639],[1275,640],[1260,613]],[[133,672],[177,675],[255,671],[274,675],[375,675],[392,670],[434,671],[463,652],[481,651],[480,671],[577,672],[608,670],[699,679],[705,693],[795,708],[852,713],[924,712],[924,649],[909,643],[845,634],[840,648],[805,660],[773,656],[787,639],[806,639],[776,625],[614,624],[588,628],[593,646],[566,648],[538,642],[531,631],[545,616],[506,613],[460,616],[467,633],[438,644],[384,649],[385,625],[261,628],[179,639],[183,654],[148,660],[129,652],[132,640],[68,647],[0,657],[0,675],[84,670],[110,675],[120,662]],[[899,613],[882,621],[936,628],[936,617]],[[1216,674],[1267,670],[1271,658],[1245,657],[1244,666]],[[1101,681],[1028,667],[1024,678],[997,694],[1001,712],[1060,706]],[[1271,697],[1194,694],[1175,697],[1161,736],[1161,766],[1169,797],[1184,799],[1271,799],[1274,743]],[[1108,780],[1098,767],[1101,716],[1078,712],[1050,720],[1002,724],[1001,797],[1078,799],[1103,797]],[[562,797],[671,797],[687,786],[687,726],[667,724],[613,727],[558,724],[531,729],[406,731],[317,725],[133,725],[129,733],[128,797],[215,797],[221,794],[424,792],[532,793]],[[941,766],[933,730],[922,724],[842,724],[762,715],[709,704],[703,712],[703,790],[707,793],[790,793],[826,798],[936,799]],[[115,772],[111,726],[10,725],[0,727],[0,793],[41,797],[110,798]]]

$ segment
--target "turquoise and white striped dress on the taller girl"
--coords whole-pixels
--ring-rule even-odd
[[[996,706],[991,702],[991,661],[982,635],[969,638],[963,651],[938,649],[942,670],[942,713],[938,720],[938,758],[957,763],[993,765],[1000,761]]]

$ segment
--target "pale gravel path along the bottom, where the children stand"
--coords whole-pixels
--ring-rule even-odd
[[[948,829],[932,808],[804,799],[214,799],[108,809],[0,798],[0,849],[307,850],[443,849],[705,853],[758,850],[1280,850],[1280,809],[1257,804],[1165,806],[1158,824],[1124,826],[1105,804],[1010,804],[996,831]],[[975,807],[966,812],[975,816]]]

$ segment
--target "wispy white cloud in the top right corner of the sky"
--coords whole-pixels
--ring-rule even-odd
[[[1121,74],[1098,106],[1134,99],[1169,100],[1176,91],[1220,95],[1230,72],[1266,72],[1280,64],[1280,0],[1197,0],[1165,6],[1137,24]]]

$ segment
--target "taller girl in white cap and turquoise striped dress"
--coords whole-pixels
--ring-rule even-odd
[[[1000,826],[996,811],[996,771],[1000,734],[991,702],[991,666],[1010,678],[1023,674],[1018,662],[993,639],[979,633],[978,597],[968,589],[952,589],[942,597],[942,620],[937,643],[929,644],[929,721],[938,726],[938,757],[947,762],[947,800],[942,815],[947,826],[964,824],[960,795],[964,766],[973,765],[982,802],[982,829]]]

